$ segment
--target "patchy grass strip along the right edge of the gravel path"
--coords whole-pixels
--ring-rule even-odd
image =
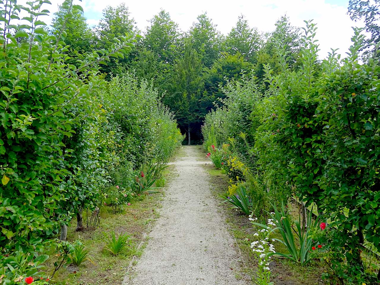
[[[211,177],[212,193],[215,199],[222,202],[219,197],[224,194],[228,187],[228,177],[222,170],[215,170],[213,166],[204,166]],[[241,255],[241,272],[239,275],[251,280],[255,284],[257,259],[250,248],[250,243],[256,240],[253,234],[256,232],[253,225],[249,223],[248,217],[240,214],[229,204],[220,203],[219,212],[226,217],[226,224],[231,235],[236,240],[237,250]],[[249,239],[248,241],[246,239]],[[286,247],[277,242],[274,244],[276,251],[287,252]],[[323,264],[318,260],[313,260],[309,266],[300,266],[290,260],[283,258],[273,258],[270,267],[272,269],[271,281],[276,285],[318,285],[323,284],[321,273]],[[243,278],[243,277],[242,277]]]

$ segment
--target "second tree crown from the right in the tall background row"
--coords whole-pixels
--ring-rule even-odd
[[[229,54],[240,53],[245,60],[255,62],[256,52],[262,45],[263,39],[258,30],[250,28],[247,19],[241,15],[223,42],[223,50]]]

